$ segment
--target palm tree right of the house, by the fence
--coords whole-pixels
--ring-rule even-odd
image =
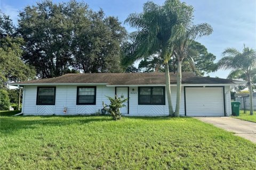
[[[250,93],[250,115],[253,115],[252,78],[256,75],[256,51],[245,47],[242,52],[227,48],[224,57],[218,62],[219,69],[231,69],[228,78],[239,78],[247,81]]]

